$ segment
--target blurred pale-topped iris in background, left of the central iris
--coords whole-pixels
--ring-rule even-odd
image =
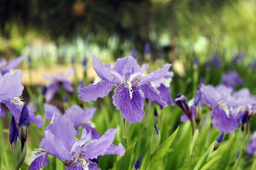
[[[71,74],[74,73],[73,69],[70,69],[67,71],[67,73],[60,72],[56,74],[55,76],[47,77],[43,75],[43,77],[50,81],[50,84],[47,87],[47,91],[45,94],[45,100],[46,102],[49,102],[54,94],[60,90],[61,87],[66,89],[68,92],[73,93],[74,87],[73,85],[67,81],[67,78],[70,77]]]

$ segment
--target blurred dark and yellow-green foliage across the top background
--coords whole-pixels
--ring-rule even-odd
[[[255,57],[255,0],[1,0],[0,55],[52,63],[75,55],[116,59],[136,47],[167,59],[238,51]],[[39,62],[40,63],[40,62]]]

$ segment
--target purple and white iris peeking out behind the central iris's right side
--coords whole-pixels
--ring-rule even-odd
[[[169,92],[170,83],[172,82],[172,77],[174,76],[173,71],[168,71],[162,78],[151,83],[153,87],[157,90],[157,93],[161,96],[163,101],[169,103],[171,106],[174,105],[172,96]]]

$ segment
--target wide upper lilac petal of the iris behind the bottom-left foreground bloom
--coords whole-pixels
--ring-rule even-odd
[[[80,106],[73,105],[66,110],[64,116],[69,118],[74,126],[77,127],[93,119],[95,111],[96,108],[94,107],[88,107],[83,110]]]

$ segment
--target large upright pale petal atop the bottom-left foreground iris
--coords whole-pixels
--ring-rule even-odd
[[[73,144],[78,140],[76,130],[70,119],[54,112],[51,123],[45,128],[55,136],[55,139],[62,142],[66,150],[71,150]],[[48,151],[48,150],[47,150]]]

